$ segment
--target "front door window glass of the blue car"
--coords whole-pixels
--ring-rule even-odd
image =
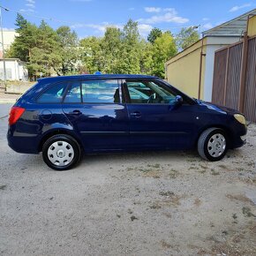
[[[176,102],[176,95],[168,88],[154,81],[126,80],[131,103],[167,103]]]

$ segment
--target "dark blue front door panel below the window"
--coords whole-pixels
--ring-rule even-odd
[[[193,106],[127,104],[133,147],[185,149],[192,147],[197,131]],[[138,113],[139,116],[134,116]]]

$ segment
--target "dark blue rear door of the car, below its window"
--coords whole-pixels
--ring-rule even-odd
[[[79,133],[86,152],[125,150],[129,124],[125,104],[63,104],[66,117]],[[76,114],[80,112],[80,114]]]

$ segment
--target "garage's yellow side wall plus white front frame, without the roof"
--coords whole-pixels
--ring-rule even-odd
[[[237,36],[207,36],[203,41],[202,74],[200,99],[210,102],[212,99],[215,50],[239,41]],[[179,88],[185,94],[198,98],[200,79],[200,51],[202,40],[172,57],[166,63],[166,79],[169,84]]]

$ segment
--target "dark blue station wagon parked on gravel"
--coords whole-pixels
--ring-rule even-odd
[[[70,169],[83,153],[192,149],[218,161],[245,144],[245,117],[143,75],[39,79],[11,108],[9,146]]]

